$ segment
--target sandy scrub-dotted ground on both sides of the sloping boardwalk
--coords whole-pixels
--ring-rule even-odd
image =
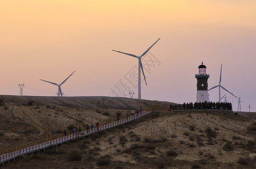
[[[130,111],[57,106],[63,109],[59,112],[46,105],[39,109],[17,103],[6,106],[0,107],[0,149],[57,134],[69,124],[83,126]],[[248,130],[254,124],[250,113],[154,112],[85,140],[21,156],[4,168],[256,168],[256,132]],[[80,161],[69,160],[74,150],[82,155]]]

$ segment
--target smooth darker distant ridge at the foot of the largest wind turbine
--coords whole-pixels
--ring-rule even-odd
[[[8,103],[26,103],[29,100],[35,101],[35,105],[67,106],[73,108],[87,109],[138,109],[140,105],[144,108],[163,107],[170,104],[166,101],[138,100],[125,97],[106,96],[81,96],[81,97],[47,97],[47,96],[10,96],[0,95],[0,99]],[[172,103],[173,104],[173,103]]]

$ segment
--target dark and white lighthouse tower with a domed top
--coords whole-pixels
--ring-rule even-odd
[[[197,78],[197,102],[209,101],[208,99],[208,78],[209,74],[206,74],[206,66],[203,64],[198,66],[199,73],[195,74]]]

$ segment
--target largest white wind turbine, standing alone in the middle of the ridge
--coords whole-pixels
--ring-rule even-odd
[[[160,39],[160,38],[159,38]],[[157,41],[159,41],[159,39],[157,40]],[[156,41],[156,42],[157,42]],[[154,46],[155,44],[156,44],[156,42],[152,45],[152,46]],[[151,46],[151,47],[152,47]],[[146,50],[142,55],[140,55],[140,56],[136,56],[136,55],[134,55],[134,54],[127,54],[127,53],[125,53],[125,52],[120,52],[120,51],[115,51],[115,50],[112,50],[112,51],[115,51],[115,52],[119,52],[119,53],[121,53],[121,54],[125,54],[125,55],[129,55],[129,56],[133,56],[133,57],[136,57],[136,58],[138,58],[138,60],[139,60],[139,69],[138,69],[138,99],[141,99],[141,84],[140,84],[140,69],[142,69],[142,73],[143,73],[143,77],[144,77],[144,80],[145,80],[145,83],[146,83],[146,86],[147,86],[147,82],[146,82],[146,78],[145,78],[145,74],[144,74],[144,70],[143,70],[143,66],[142,66],[142,56],[144,56],[144,55],[146,55],[147,54],[147,52],[151,49],[151,47],[150,48],[148,48],[148,50]]]

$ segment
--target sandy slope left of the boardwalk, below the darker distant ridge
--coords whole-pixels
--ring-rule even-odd
[[[70,124],[86,126],[114,117],[116,112],[125,114],[128,110],[95,110],[56,106],[63,110],[46,108],[45,105],[22,106],[6,103],[0,107],[0,149],[29,143],[46,136],[59,134]],[[104,113],[109,113],[108,116]]]

